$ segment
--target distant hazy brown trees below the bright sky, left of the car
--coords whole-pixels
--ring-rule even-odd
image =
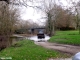
[[[30,29],[32,28],[38,28],[40,27],[38,23],[34,23],[31,20],[20,20],[17,24],[17,28],[15,30],[15,33],[17,34],[24,34],[24,33],[29,33]]]

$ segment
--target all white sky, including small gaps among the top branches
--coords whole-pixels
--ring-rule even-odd
[[[40,0],[41,1],[41,0]],[[46,0],[47,1],[47,0]],[[60,0],[60,2],[57,2],[58,0],[56,0],[57,4],[63,5],[63,6],[71,6],[70,0],[68,0],[68,2],[66,2],[66,0]],[[73,0],[75,1],[75,0]],[[76,0],[77,2],[78,0]],[[35,5],[35,6],[41,6],[42,3],[28,3],[28,5]],[[32,20],[33,22],[37,22],[39,24],[44,24],[45,19],[41,19],[42,17],[45,17],[45,13],[41,10],[36,10],[32,7],[24,7],[22,6],[20,8],[20,14],[21,14],[21,19],[23,20]]]

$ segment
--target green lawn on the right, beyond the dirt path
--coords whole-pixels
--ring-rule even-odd
[[[49,42],[80,45],[80,35],[78,31],[57,31],[56,35],[51,37]]]

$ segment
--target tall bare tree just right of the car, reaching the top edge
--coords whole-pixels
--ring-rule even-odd
[[[55,0],[44,0],[44,12],[46,13],[47,20],[46,20],[46,33],[50,36],[55,34],[55,19],[56,19],[56,4]],[[53,9],[53,11],[52,11]]]

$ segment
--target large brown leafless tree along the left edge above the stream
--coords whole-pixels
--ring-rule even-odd
[[[8,4],[0,2],[0,48],[10,45],[9,38],[14,33],[18,21],[16,9],[10,9]]]

